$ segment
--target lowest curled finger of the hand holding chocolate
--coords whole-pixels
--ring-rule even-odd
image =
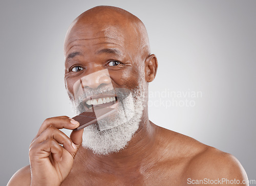
[[[55,139],[50,138],[46,141],[32,146],[29,150],[30,160],[44,159],[52,154],[53,159],[60,161],[63,154],[63,147],[61,147]]]

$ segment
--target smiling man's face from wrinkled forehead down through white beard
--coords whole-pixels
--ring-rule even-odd
[[[115,102],[118,106],[114,119],[104,121],[115,128],[100,131],[98,125],[92,125],[84,130],[83,145],[98,154],[109,154],[124,148],[138,129],[144,108],[143,59],[133,44],[131,32],[112,25],[77,24],[66,38],[65,81],[76,106],[82,104],[88,109],[91,105],[87,100],[99,95],[101,98],[115,97],[117,101],[123,100],[121,103]],[[77,95],[77,82],[81,84],[85,94]],[[132,92],[130,98],[127,94],[129,91]],[[131,102],[134,104],[129,104]],[[124,111],[135,109],[136,117],[127,122],[129,124],[118,126],[123,121],[123,113],[119,108]],[[114,136],[118,142],[110,136]],[[109,148],[106,149],[106,146]]]

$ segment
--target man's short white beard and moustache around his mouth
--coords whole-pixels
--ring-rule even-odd
[[[144,87],[144,84],[139,83],[137,89],[131,91],[132,96],[130,97],[128,97],[127,94],[125,96],[125,94],[119,91],[119,97],[126,97],[126,99],[122,99],[122,102],[117,103],[118,105],[114,116],[111,114],[111,118],[107,117],[98,121],[96,124],[84,128],[82,146],[91,149],[98,155],[108,155],[124,149],[138,130],[141,122],[145,105]],[[111,90],[106,89],[103,91],[99,90],[99,92],[104,91],[111,92]],[[116,94],[118,95],[118,92],[116,92]],[[73,98],[72,95],[70,95],[70,97]],[[84,97],[85,96],[82,96],[77,100],[72,99],[73,106],[78,114],[85,111],[81,106],[81,100],[83,100]],[[125,112],[133,112],[133,117],[129,117],[131,118],[129,121],[127,121],[127,114]],[[99,126],[104,126],[104,124],[108,126],[108,129],[100,130]]]

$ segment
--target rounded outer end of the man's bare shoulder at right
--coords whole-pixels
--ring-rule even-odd
[[[244,181],[248,179],[236,157],[213,147],[207,147],[194,156],[187,165],[185,175],[190,180],[208,181],[207,184],[211,181],[214,184],[247,185]]]

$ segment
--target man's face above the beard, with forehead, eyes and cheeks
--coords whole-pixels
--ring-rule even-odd
[[[71,94],[75,93],[75,82],[103,69],[108,69],[111,82],[108,77],[95,77],[88,80],[84,88],[96,89],[110,83],[114,88],[138,86],[143,59],[134,48],[135,38],[122,30],[117,26],[83,24],[71,29],[65,42],[65,81]]]

